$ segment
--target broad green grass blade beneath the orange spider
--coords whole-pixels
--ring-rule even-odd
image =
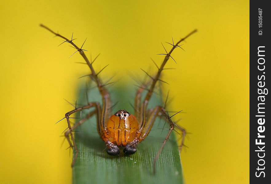
[[[129,101],[133,102],[132,96],[135,95],[135,90],[129,91],[120,86],[110,89],[113,103],[119,101],[112,113],[124,108],[132,113],[134,110],[129,105]],[[86,104],[85,88],[79,91],[79,99],[77,104]],[[101,101],[100,95],[95,90],[88,93],[88,99],[90,102]],[[155,105],[162,105],[162,100],[158,95],[152,97],[149,107],[155,107]],[[87,112],[88,110],[85,110],[82,117]],[[183,183],[178,145],[173,134],[156,163],[156,174],[153,174],[153,160],[168,132],[168,130],[162,131],[164,123],[165,120],[156,119],[150,134],[138,144],[135,154],[124,156],[121,152],[120,156],[110,156],[105,150],[104,141],[97,133],[96,117],[90,118],[75,132],[79,154],[73,167],[73,183]],[[165,128],[168,128],[168,123]]]

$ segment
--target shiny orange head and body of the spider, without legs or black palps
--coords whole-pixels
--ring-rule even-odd
[[[109,134],[105,140],[109,139],[118,146],[126,146],[135,138],[138,122],[135,116],[126,110],[119,110],[109,118],[107,127]]]

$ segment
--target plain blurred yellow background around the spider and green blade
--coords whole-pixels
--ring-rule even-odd
[[[78,77],[88,74],[78,53],[38,25],[77,40],[87,56],[102,53],[102,75],[155,67],[160,42],[197,28],[165,71],[192,134],[181,154],[186,183],[249,181],[249,1],[1,1],[0,183],[70,183],[68,144],[59,137],[73,107]],[[165,44],[164,44],[165,45]],[[167,48],[168,45],[166,45]],[[124,79],[121,79],[124,77]],[[129,85],[128,85],[129,86]],[[129,99],[130,100],[130,99]]]

